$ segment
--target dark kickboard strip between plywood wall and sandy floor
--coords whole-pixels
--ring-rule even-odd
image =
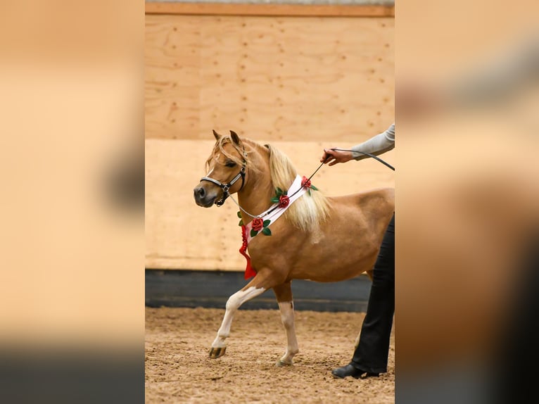
[[[227,299],[245,286],[243,272],[146,270],[146,306],[224,308]],[[296,310],[364,312],[371,281],[366,276],[344,282],[292,281]],[[246,310],[277,309],[273,291],[241,306]]]

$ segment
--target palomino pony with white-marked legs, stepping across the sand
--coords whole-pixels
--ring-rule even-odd
[[[288,189],[296,178],[296,169],[277,149],[240,139],[232,131],[230,136],[215,131],[214,135],[217,143],[206,161],[208,175],[194,189],[199,206],[219,206],[227,191],[237,192],[243,210],[258,215],[272,206],[270,200],[277,187]],[[230,189],[223,190],[223,184]],[[271,236],[258,234],[250,241],[248,251],[256,276],[228,299],[210,358],[224,355],[236,310],[272,288],[287,339],[286,353],[277,365],[291,365],[298,353],[292,279],[337,282],[362,272],[370,275],[394,209],[393,189],[336,198],[326,198],[312,190],[300,196],[272,224]],[[247,225],[252,217],[242,213],[242,220]]]

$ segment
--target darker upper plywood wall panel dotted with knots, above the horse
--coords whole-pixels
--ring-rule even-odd
[[[393,122],[393,18],[146,15],[146,137],[356,143]]]

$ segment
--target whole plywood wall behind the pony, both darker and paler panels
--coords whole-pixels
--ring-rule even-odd
[[[146,267],[243,270],[236,206],[195,205],[211,130],[274,144],[307,175],[393,115],[393,18],[146,15]],[[386,153],[391,162],[394,152]],[[393,186],[375,161],[324,168],[326,194]]]

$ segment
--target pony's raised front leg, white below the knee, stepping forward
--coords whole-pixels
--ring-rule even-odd
[[[238,310],[243,303],[261,295],[267,291],[267,289],[270,289],[271,286],[267,286],[268,282],[271,282],[269,275],[269,271],[259,271],[251,282],[229,297],[227,301],[227,311],[224,313],[221,327],[219,328],[219,331],[217,331],[217,336],[210,349],[210,358],[220,358],[224,355],[224,352],[227,350],[226,339],[230,335],[230,326],[232,325],[234,313],[236,313],[236,310]]]

